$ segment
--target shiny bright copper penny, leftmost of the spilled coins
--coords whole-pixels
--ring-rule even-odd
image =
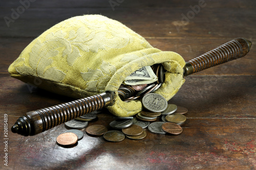
[[[78,137],[74,133],[62,133],[57,137],[57,143],[60,145],[73,145],[77,142]]]

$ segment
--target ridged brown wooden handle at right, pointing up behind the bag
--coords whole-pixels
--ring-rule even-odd
[[[245,38],[236,38],[209,51],[193,60],[186,62],[184,76],[195,72],[244,57],[250,50],[251,42]]]

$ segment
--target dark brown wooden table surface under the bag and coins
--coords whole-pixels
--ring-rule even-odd
[[[20,1],[0,2],[1,169],[256,169],[256,1],[30,1],[21,1],[27,2],[26,8],[20,7]],[[17,9],[21,12],[14,16]],[[186,77],[168,101],[188,109],[180,135],[146,130],[143,140],[112,143],[82,129],[84,137],[77,145],[62,148],[56,137],[66,131],[64,125],[30,137],[13,134],[11,126],[19,116],[73,99],[31,89],[11,78],[8,66],[42,32],[83,14],[116,19],[154,47],[177,52],[185,61],[237,37],[247,38],[252,47],[241,59]],[[13,20],[6,22],[4,17]],[[8,115],[7,137],[4,114]],[[103,110],[89,125],[111,129],[112,120]]]

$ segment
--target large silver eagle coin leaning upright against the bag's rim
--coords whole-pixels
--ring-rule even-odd
[[[149,111],[162,112],[166,109],[168,103],[162,95],[149,93],[142,98],[142,105]]]

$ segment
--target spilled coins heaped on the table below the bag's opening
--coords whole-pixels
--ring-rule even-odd
[[[157,96],[157,98],[156,98]],[[153,134],[164,135],[164,134],[172,134],[178,135],[182,133],[182,127],[180,125],[184,124],[186,117],[183,115],[187,113],[187,109],[184,107],[177,107],[174,104],[166,104],[167,101],[162,98],[161,95],[150,95],[147,94],[143,97],[143,105],[148,105],[149,101],[152,101],[154,104],[151,107],[148,107],[149,110],[141,111],[136,115],[136,117],[121,117],[113,120],[110,123],[111,130],[108,131],[106,127],[103,125],[91,125],[88,126],[89,122],[84,122],[83,119],[71,120],[65,124],[66,128],[73,129],[79,131],[77,129],[86,128],[86,133],[92,136],[102,136],[106,141],[110,142],[121,142],[125,139],[132,140],[141,140],[146,138],[145,129]],[[154,99],[157,101],[154,102]],[[161,100],[165,100],[160,102]],[[152,109],[153,108],[153,109]],[[145,108],[146,109],[146,108]],[[89,115],[90,117],[97,117],[95,114]],[[159,122],[156,122],[159,117]],[[161,118],[160,118],[161,117]],[[91,119],[92,120],[92,119]],[[79,123],[80,122],[80,123]],[[152,123],[150,123],[152,122]],[[85,126],[86,125],[86,126]],[[72,132],[72,130],[66,131]],[[74,133],[78,136],[78,140],[81,139],[78,132]],[[75,144],[75,143],[73,143]],[[69,144],[72,145],[72,144]]]

